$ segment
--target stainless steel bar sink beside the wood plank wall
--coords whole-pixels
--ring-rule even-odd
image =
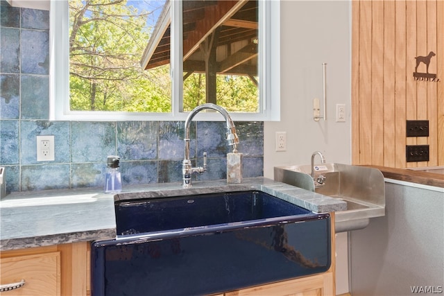
[[[276,166],[275,180],[347,202],[336,211],[336,232],[362,229],[370,218],[385,215],[384,175],[376,168],[348,164]],[[322,180],[322,183],[318,183]]]

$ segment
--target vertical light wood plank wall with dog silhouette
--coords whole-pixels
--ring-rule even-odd
[[[429,51],[439,82],[413,78]],[[429,120],[429,137],[406,137],[407,120]],[[429,162],[407,162],[422,144]],[[444,0],[352,0],[352,163],[444,165]]]

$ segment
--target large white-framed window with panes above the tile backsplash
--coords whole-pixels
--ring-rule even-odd
[[[279,120],[279,1],[123,2],[51,1],[51,119],[185,120],[211,102],[237,121]],[[94,22],[110,16],[117,26]]]

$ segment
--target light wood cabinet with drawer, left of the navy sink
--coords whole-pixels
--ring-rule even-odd
[[[0,252],[0,284],[25,284],[1,295],[88,295],[89,244],[30,247]]]

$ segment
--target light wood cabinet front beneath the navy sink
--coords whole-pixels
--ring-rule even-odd
[[[331,296],[332,273],[280,281],[225,293],[225,296]]]

